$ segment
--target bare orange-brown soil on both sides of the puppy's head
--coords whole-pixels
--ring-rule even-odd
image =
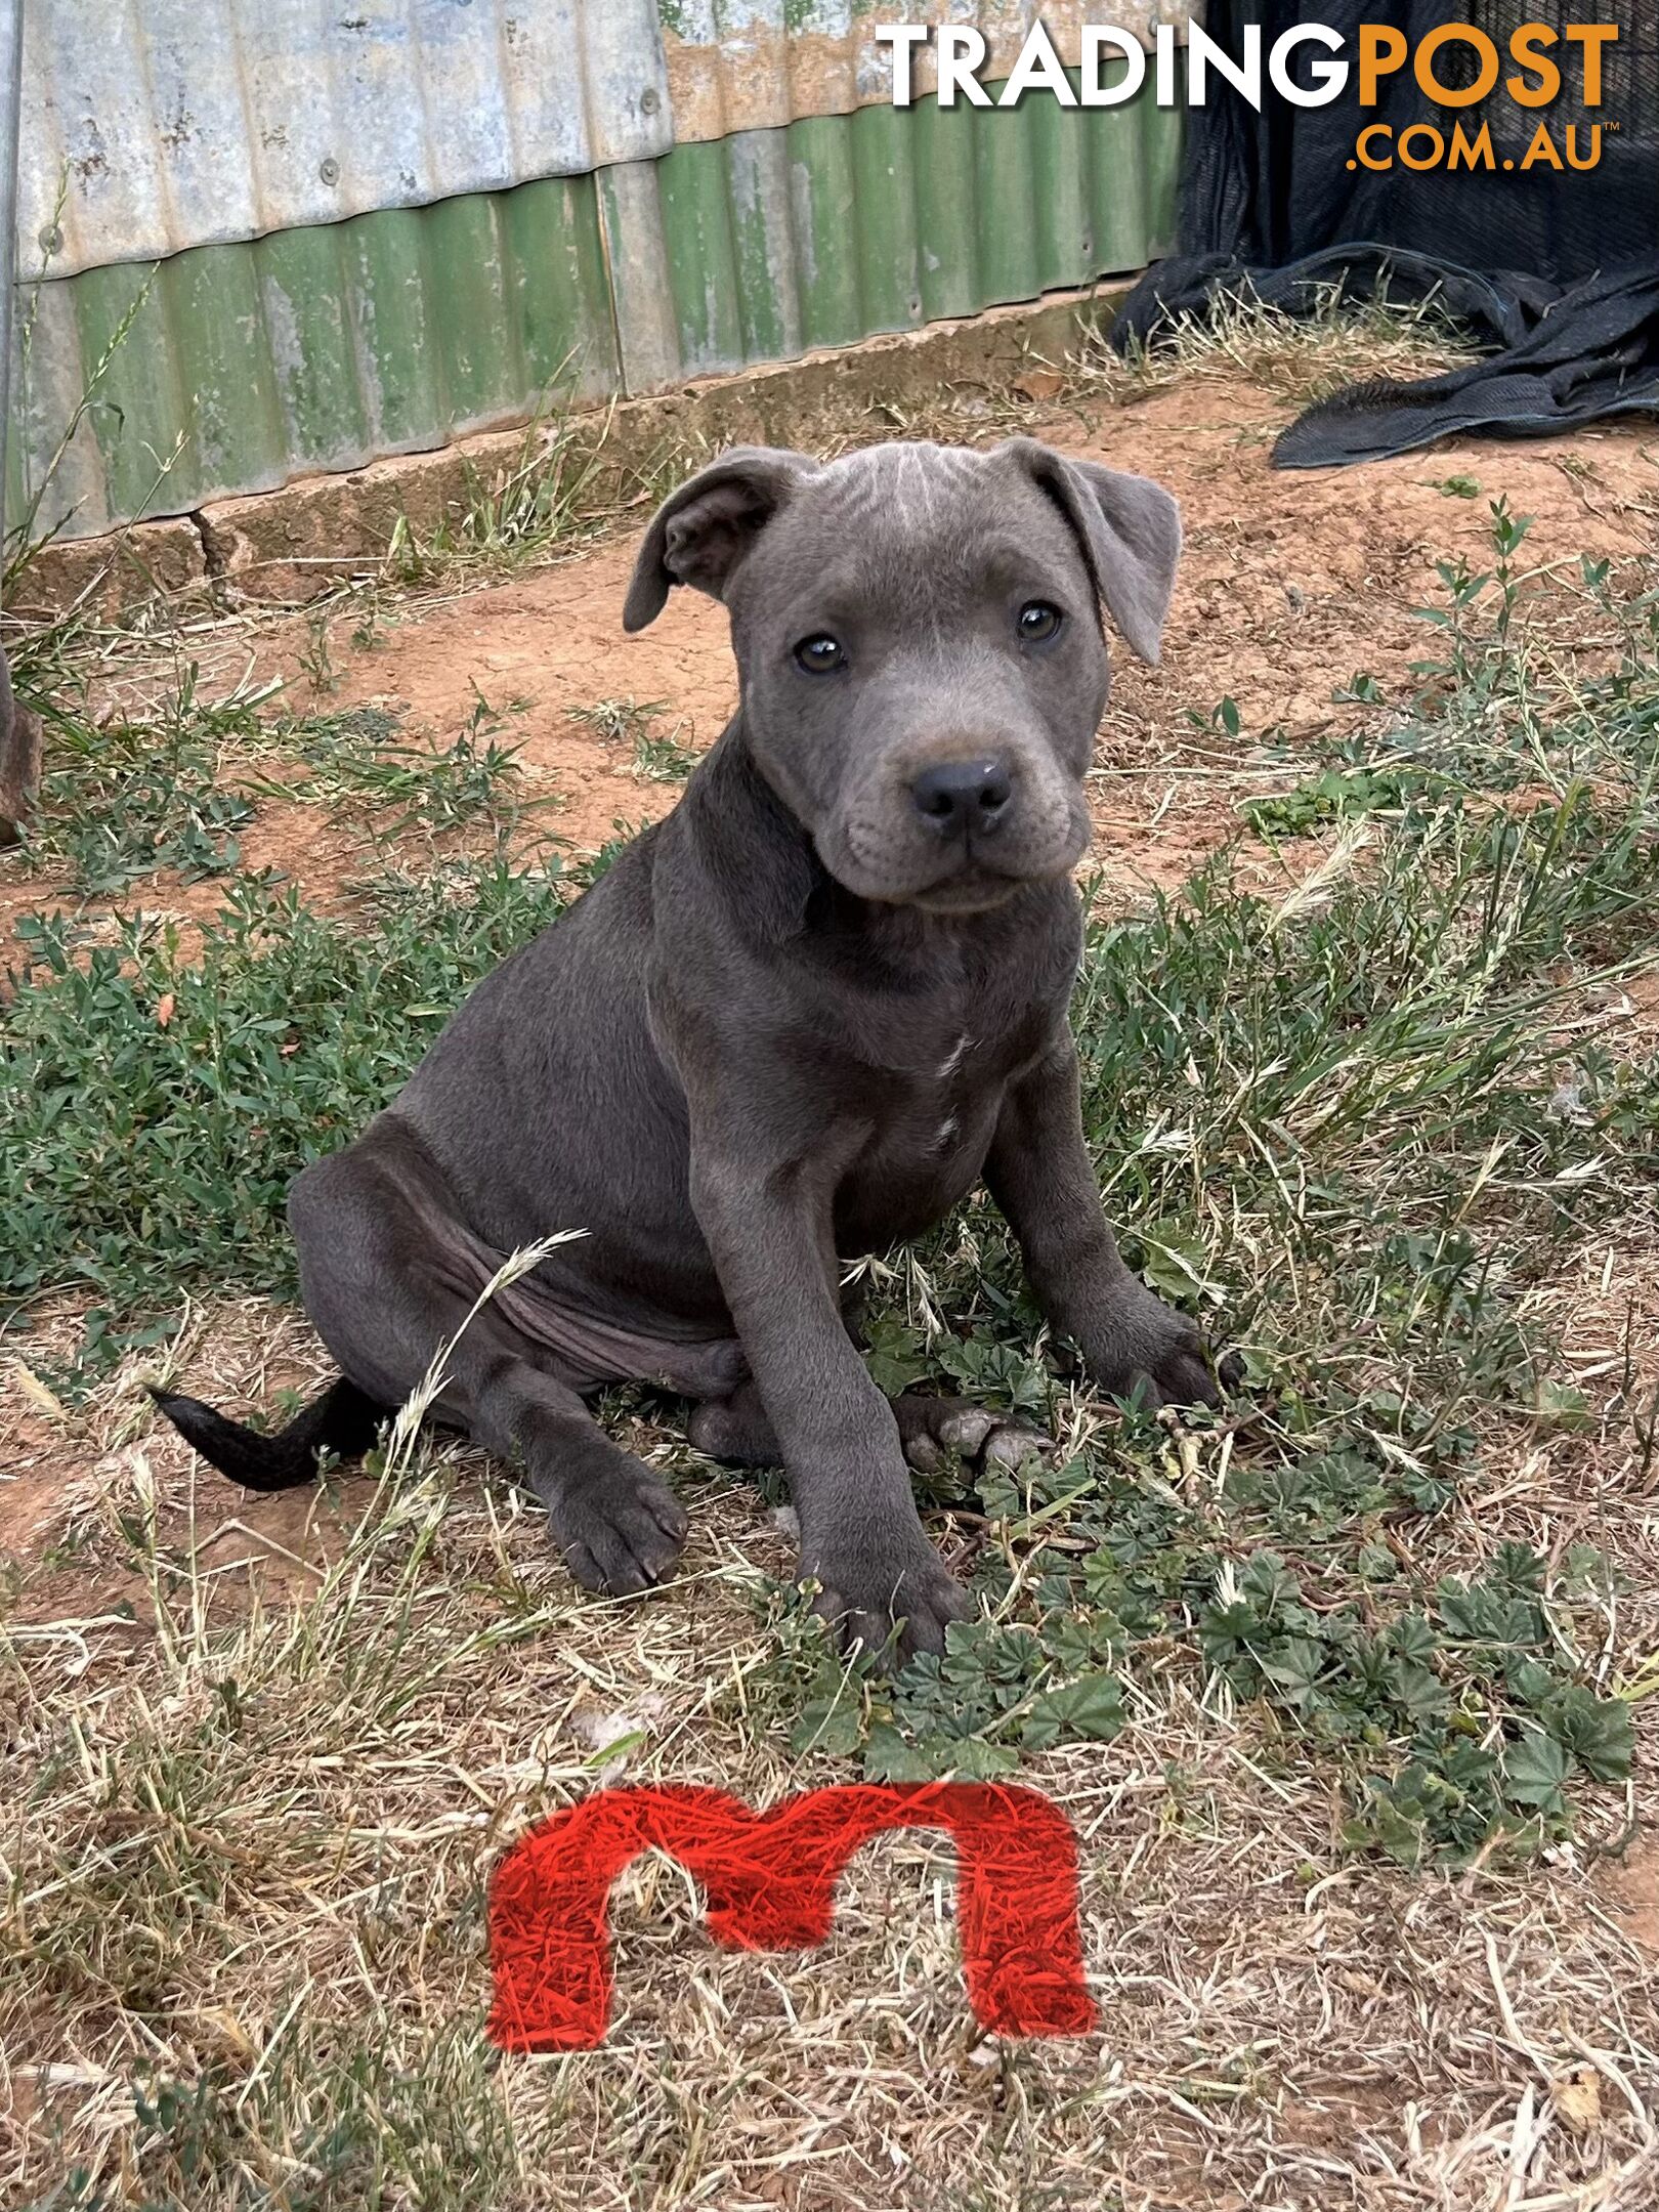
[[[1186,524],[1161,668],[1121,646],[1115,655],[1095,810],[1108,889],[1181,880],[1237,827],[1241,796],[1294,781],[1252,759],[1263,734],[1294,754],[1356,728],[1365,710],[1332,701],[1356,672],[1376,677],[1385,697],[1409,688],[1407,664],[1429,635],[1413,608],[1442,597],[1436,562],[1489,564],[1491,500],[1533,518],[1531,564],[1652,549],[1659,449],[1637,422],[1526,445],[1453,442],[1365,469],[1279,471],[1270,440],[1283,420],[1243,376],[1206,376],[1130,405],[1033,405],[1022,425],[1064,451],[1155,476]],[[504,717],[502,741],[522,748],[524,796],[553,801],[535,812],[533,834],[593,852],[619,825],[664,814],[677,785],[644,776],[626,739],[604,739],[573,710],[657,706],[659,732],[697,754],[737,701],[726,615],[701,595],[677,591],[648,630],[624,635],[635,542],[478,588],[387,597],[372,624],[356,604],[239,617],[192,637],[190,653],[208,684],[281,679],[283,706],[299,714],[389,706],[403,737],[436,745],[482,697]],[[166,668],[115,664],[100,703],[142,712],[173,679],[173,655]],[[1237,739],[1210,726],[1223,699],[1239,708]],[[243,858],[292,874],[327,909],[349,902],[363,838],[349,823],[312,810],[288,816],[270,801],[243,836]],[[157,878],[128,905],[201,918],[217,896],[215,883]],[[60,902],[51,883],[0,865],[0,929]]]

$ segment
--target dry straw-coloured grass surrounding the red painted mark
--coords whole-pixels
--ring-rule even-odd
[[[1652,1298],[1628,1265],[1610,1310]],[[1579,1336],[1606,1349],[1582,1310]],[[690,1482],[672,1593],[606,1606],[462,1451],[319,1495],[279,1577],[184,1453],[119,1447],[80,1575],[131,1577],[133,1617],[24,1606],[4,1632],[7,2201],[84,2166],[204,2212],[1652,2203],[1652,1962],[1597,1867],[1650,1785],[1522,1874],[1376,1869],[1272,1723],[1155,1655],[1115,1743],[1031,1767],[1079,1836],[1097,2037],[984,2042],[949,1854],[889,1838],[812,1964],[714,1951],[684,1876],[641,1863],[606,2048],[491,2059],[482,1885],[526,1820],[619,1776],[759,1805],[845,1772],[779,1725],[781,1535],[745,1489]],[[1617,1447],[1517,1436],[1451,1548],[1593,1531],[1641,1562],[1617,1679],[1632,1632],[1655,1648],[1652,1520]]]

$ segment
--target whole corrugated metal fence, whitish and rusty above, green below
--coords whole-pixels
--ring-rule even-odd
[[[891,106],[876,20],[975,22],[993,82],[1035,13],[29,0],[7,520],[188,513],[1139,268],[1179,157],[1150,86]],[[1042,15],[1075,62],[1084,9]]]

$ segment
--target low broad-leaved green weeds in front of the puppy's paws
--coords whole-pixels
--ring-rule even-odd
[[[1208,1504],[1150,1425],[982,1475],[984,1617],[889,1681],[796,1615],[772,1663],[792,1750],[860,1759],[872,1781],[989,1781],[1119,1734],[1128,1679],[1183,1672],[1270,1717],[1265,1761],[1336,1765],[1352,1849],[1528,1851],[1566,1832],[1575,1776],[1630,1774],[1630,1712],[1588,1688],[1599,1613],[1571,1575],[1548,1586],[1524,1544],[1475,1577],[1413,1562],[1471,1449],[1400,1400],[1332,1394],[1318,1427],[1234,1455]]]

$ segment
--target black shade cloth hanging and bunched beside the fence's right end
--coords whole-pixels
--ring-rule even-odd
[[[1256,113],[1225,80],[1190,111],[1181,177],[1179,252],[1135,288],[1113,330],[1119,349],[1155,341],[1170,316],[1194,316],[1221,296],[1248,292],[1290,314],[1332,299],[1438,299],[1495,352],[1427,383],[1354,385],[1310,407],[1274,447],[1274,465],[1314,469],[1402,453],[1467,431],[1542,436],[1626,409],[1659,407],[1659,0],[1604,0],[1584,11],[1562,0],[1210,0],[1210,35],[1241,53],[1245,24],[1263,49],[1281,31],[1323,22],[1356,60],[1360,22],[1389,22],[1416,42],[1447,22],[1486,31],[1513,75],[1509,35],[1522,22],[1613,22],[1604,46],[1599,106],[1582,102],[1577,49],[1553,49],[1562,95],[1524,108],[1500,93],[1475,106],[1438,106],[1411,69],[1383,80],[1374,108],[1358,104],[1358,71],[1343,97],[1298,108],[1267,93]],[[1475,53],[1440,49],[1436,75],[1473,84]],[[1460,75],[1462,71],[1462,75]],[[1303,82],[1305,69],[1292,66]],[[1484,168],[1374,173],[1349,168],[1358,133],[1387,124],[1398,135],[1433,124],[1447,139],[1491,128],[1500,164]],[[1577,131],[1588,150],[1601,124],[1601,159],[1590,170],[1520,164],[1540,122],[1557,148]],[[1610,131],[1608,124],[1617,124]]]

